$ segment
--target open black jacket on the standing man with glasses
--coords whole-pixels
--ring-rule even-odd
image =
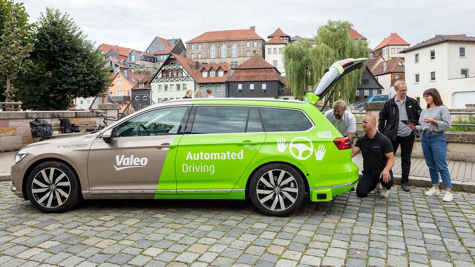
[[[416,99],[406,96],[406,112],[409,120],[415,120],[416,125],[419,125],[419,116],[421,114],[421,107]],[[380,111],[380,118],[378,120],[378,131],[386,135],[391,140],[396,140],[397,126],[399,124],[399,108],[394,100],[390,98],[384,103]]]

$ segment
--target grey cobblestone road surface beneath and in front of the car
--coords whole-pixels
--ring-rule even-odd
[[[90,200],[42,214],[0,183],[1,266],[475,266],[475,195],[354,191],[288,218],[246,201]]]

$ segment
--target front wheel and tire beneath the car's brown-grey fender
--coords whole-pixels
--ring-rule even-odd
[[[65,212],[82,198],[78,175],[58,161],[36,166],[28,176],[26,192],[31,204],[44,213]]]

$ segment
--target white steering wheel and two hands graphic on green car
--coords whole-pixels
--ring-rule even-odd
[[[285,142],[285,138],[279,138],[277,140],[277,151],[284,153],[286,149],[287,143]],[[298,160],[306,160],[310,158],[315,152],[315,159],[321,161],[327,152],[327,149],[323,144],[318,146],[318,150],[315,149],[314,151],[313,142],[304,136],[297,136],[293,138],[288,144],[288,150],[290,154]]]

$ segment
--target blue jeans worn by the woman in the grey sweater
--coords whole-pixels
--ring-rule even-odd
[[[429,168],[432,185],[439,185],[439,174],[444,188],[452,188],[449,169],[447,168],[447,143],[444,133],[422,135],[422,150]]]

